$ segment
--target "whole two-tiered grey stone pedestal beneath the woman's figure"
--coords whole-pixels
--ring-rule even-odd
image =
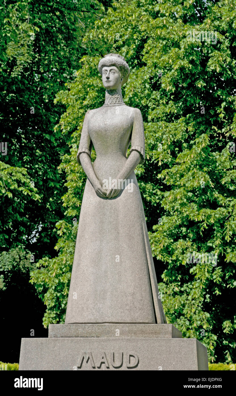
[[[19,370],[208,370],[206,347],[178,337],[168,324],[50,325],[22,338]]]

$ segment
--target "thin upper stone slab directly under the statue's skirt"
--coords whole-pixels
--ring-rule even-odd
[[[182,338],[182,333],[172,324],[50,324],[49,338],[54,337]]]

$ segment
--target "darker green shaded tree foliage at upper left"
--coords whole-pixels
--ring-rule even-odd
[[[34,243],[37,260],[54,253],[54,224],[64,217],[60,198],[66,191],[58,166],[69,152],[67,137],[54,131],[65,110],[54,105],[54,96],[74,80],[86,53],[82,38],[103,12],[96,0],[0,4],[0,122],[7,143],[0,167],[0,251],[22,243],[30,250]]]

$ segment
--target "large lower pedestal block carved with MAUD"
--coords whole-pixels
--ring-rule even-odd
[[[196,339],[181,338],[23,338],[21,342],[19,370],[115,369],[208,370],[207,351]]]

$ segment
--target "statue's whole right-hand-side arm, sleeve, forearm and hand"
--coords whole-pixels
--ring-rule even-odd
[[[144,162],[145,158],[145,139],[144,139],[144,126],[142,114],[139,109],[134,109],[133,130],[131,136],[131,149],[130,155],[125,162],[124,167],[116,176],[116,179],[127,179],[130,173],[136,168],[140,161]],[[114,198],[119,194],[120,190],[110,189],[107,192],[107,198]]]

